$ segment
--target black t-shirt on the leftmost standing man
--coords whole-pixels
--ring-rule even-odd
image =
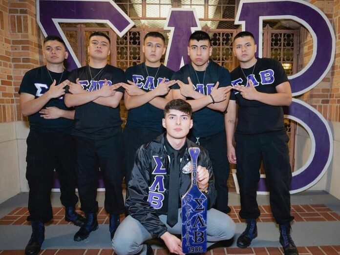
[[[50,75],[48,74],[50,73]],[[47,70],[46,66],[40,66],[28,71],[22,78],[19,94],[27,93],[39,98],[43,96],[52,84],[52,79],[55,79],[59,84],[63,82],[69,75],[67,70],[63,73],[54,73]],[[59,82],[60,81],[60,82]],[[58,85],[56,84],[56,85]],[[44,106],[57,107],[62,110],[68,110],[64,104],[64,97],[52,98]],[[47,134],[70,134],[73,126],[73,119],[55,118],[44,119],[40,117],[42,114],[39,111],[28,117],[30,129]]]

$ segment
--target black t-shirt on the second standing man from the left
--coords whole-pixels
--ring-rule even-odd
[[[90,73],[91,72],[91,73]],[[91,82],[91,77],[93,78]],[[69,80],[75,82],[79,78],[83,89],[95,91],[100,89],[108,81],[108,85],[124,82],[124,71],[112,65],[102,68],[92,68],[88,65],[71,72]],[[124,88],[119,87],[119,92],[124,93]],[[121,132],[122,119],[117,108],[88,102],[76,107],[75,127],[72,135],[90,139],[105,139]]]

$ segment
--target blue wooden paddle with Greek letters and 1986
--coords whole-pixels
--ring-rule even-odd
[[[207,197],[197,186],[199,153],[199,148],[189,148],[192,166],[191,186],[182,197],[182,250],[185,254],[207,251]]]

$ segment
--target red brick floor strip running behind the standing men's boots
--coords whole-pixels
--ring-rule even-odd
[[[244,222],[239,216],[240,206],[231,206],[232,211],[229,216],[234,222]],[[269,205],[259,206],[261,216],[258,222],[274,222],[274,217],[270,210]],[[80,214],[82,212],[79,208],[76,211]],[[340,215],[333,212],[327,206],[323,204],[312,204],[312,205],[292,205],[291,213],[295,217],[295,221],[340,221]],[[64,207],[53,207],[53,220],[49,224],[71,224],[64,220]],[[29,224],[26,221],[28,215],[27,207],[18,207],[10,212],[8,215],[0,218],[0,225],[25,225]],[[124,215],[121,215],[123,220]],[[99,208],[98,212],[98,223],[108,224],[108,215],[103,207]]]

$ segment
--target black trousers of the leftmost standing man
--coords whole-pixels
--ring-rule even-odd
[[[30,131],[27,137],[26,179],[29,186],[27,220],[48,222],[52,219],[51,188],[54,169],[66,207],[75,206],[74,141],[70,135],[49,135]]]

